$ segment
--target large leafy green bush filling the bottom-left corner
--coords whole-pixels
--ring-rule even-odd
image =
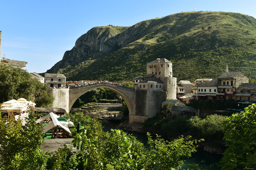
[[[25,126],[10,116],[4,121],[0,113],[0,167],[1,169],[43,170],[47,161],[41,146],[44,134],[41,124],[35,123],[35,114],[29,112]]]

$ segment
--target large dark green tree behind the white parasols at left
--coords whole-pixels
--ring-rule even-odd
[[[47,86],[32,78],[26,70],[0,63],[0,103],[25,98],[33,100],[38,107],[46,107],[53,102],[47,90]]]

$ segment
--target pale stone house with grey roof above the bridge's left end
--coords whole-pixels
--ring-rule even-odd
[[[65,87],[66,77],[63,74],[45,73],[45,83],[48,87],[61,88]]]

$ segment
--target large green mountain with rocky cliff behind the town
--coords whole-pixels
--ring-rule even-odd
[[[177,80],[217,78],[242,71],[255,78],[256,19],[230,12],[182,12],[131,27],[95,27],[48,73],[68,80],[132,80],[157,58],[173,63]]]

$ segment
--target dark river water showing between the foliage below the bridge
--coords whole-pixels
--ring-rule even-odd
[[[110,131],[111,129],[120,129],[118,126],[118,123],[114,122],[108,122],[102,123],[103,131]],[[136,132],[127,132],[128,134],[132,134],[134,137],[136,137],[139,141],[144,143],[144,145],[147,144],[147,135],[146,134],[140,134]],[[184,161],[184,165],[182,166],[183,168],[187,169],[189,167],[189,164],[192,163],[200,163],[199,165],[203,169],[209,169],[211,164],[218,163],[222,158],[222,155],[216,155],[216,154],[210,154],[208,152],[205,152],[203,149],[198,149],[196,153],[192,154],[192,157],[186,158]],[[211,168],[211,170],[220,170],[221,168],[216,167],[216,165]]]

